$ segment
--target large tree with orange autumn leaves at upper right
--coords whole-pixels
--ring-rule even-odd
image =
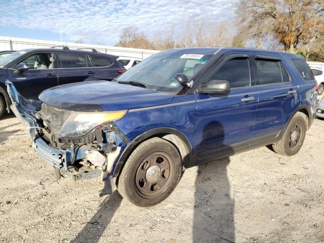
[[[324,1],[241,0],[237,14],[240,35],[259,47],[274,37],[285,51],[296,53],[324,35]]]

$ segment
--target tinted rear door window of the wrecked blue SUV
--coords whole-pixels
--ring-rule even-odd
[[[282,83],[280,62],[277,60],[255,60],[259,85]],[[287,75],[287,73],[286,73]]]

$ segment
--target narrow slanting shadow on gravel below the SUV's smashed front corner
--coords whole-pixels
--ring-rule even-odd
[[[117,191],[106,197],[100,204],[96,214],[71,242],[98,242],[118,209],[122,198]]]

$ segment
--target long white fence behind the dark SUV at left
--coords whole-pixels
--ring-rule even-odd
[[[136,57],[145,59],[159,51],[124,48],[124,47],[111,47],[102,45],[78,44],[78,43],[63,43],[70,49],[96,49],[98,52],[103,52],[115,56],[123,57]],[[29,48],[50,48],[55,46],[62,46],[61,42],[43,41],[41,39],[27,39],[15,38],[8,36],[0,36],[0,51],[5,50],[21,50]]]

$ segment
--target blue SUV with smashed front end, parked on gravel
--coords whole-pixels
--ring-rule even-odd
[[[101,176],[133,204],[164,200],[184,169],[271,145],[301,148],[316,81],[298,55],[255,49],[161,51],[113,82],[43,92],[33,107],[9,81],[12,110],[58,178]]]

